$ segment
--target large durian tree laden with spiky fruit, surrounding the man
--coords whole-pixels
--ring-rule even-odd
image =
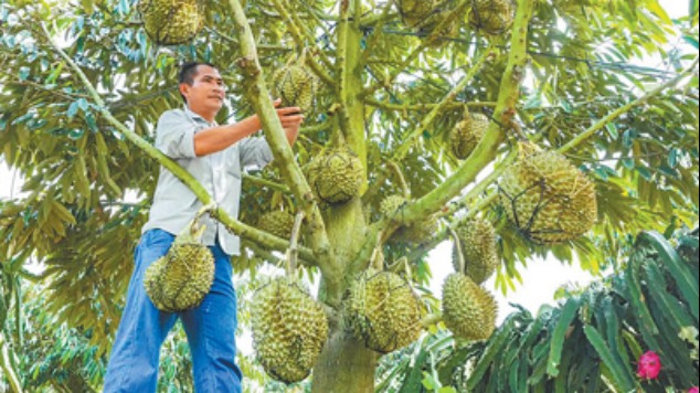
[[[237,270],[298,259],[289,278],[320,282],[277,285],[324,311],[317,392],[371,391],[378,359],[443,310],[488,336],[491,272],[501,290],[535,255],[597,272],[630,234],[697,223],[696,1],[672,21],[657,0],[10,0],[0,28],[0,149],[24,180],[2,203],[3,268],[41,261],[46,312],[96,357],[159,168],[212,200],[152,147],[187,60],[224,75],[220,123],[262,119],[273,163],[245,176],[240,217],[212,214],[243,238]],[[272,95],[305,109],[294,148]],[[428,261],[446,240],[455,261]],[[452,298],[484,300],[423,289],[453,266]],[[21,327],[2,337],[21,348]]]

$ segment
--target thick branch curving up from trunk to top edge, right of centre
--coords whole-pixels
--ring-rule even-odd
[[[511,50],[506,72],[501,78],[498,104],[494,121],[476,150],[450,177],[415,203],[404,209],[402,215],[406,223],[418,221],[441,210],[457,195],[496,157],[498,147],[506,137],[505,127],[509,127],[516,114],[516,104],[520,96],[520,83],[527,64],[528,23],[532,15],[531,0],[520,0],[512,28]]]

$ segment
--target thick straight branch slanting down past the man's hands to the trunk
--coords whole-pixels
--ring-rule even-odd
[[[326,225],[316,203],[316,199],[314,198],[314,193],[311,192],[311,188],[294,158],[291,147],[282,129],[273,103],[269,100],[269,94],[257,60],[251,25],[243,12],[241,2],[238,0],[230,0],[229,3],[233,11],[241,53],[243,55],[237,63],[246,76],[245,96],[251,100],[251,105],[259,116],[265,131],[265,139],[273,150],[273,155],[282,170],[285,181],[297,197],[299,208],[309,220],[307,229],[310,231],[309,238],[311,248],[318,262],[318,266],[327,280],[326,283],[329,288],[332,288],[331,293],[339,293],[336,289],[339,288],[341,279],[340,267],[338,266],[339,264],[328,241]],[[336,304],[339,300],[340,299],[329,299],[331,304]]]

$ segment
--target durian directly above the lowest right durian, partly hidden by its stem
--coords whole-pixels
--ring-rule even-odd
[[[500,259],[496,244],[496,230],[488,220],[473,219],[457,227],[457,237],[466,266],[464,274],[480,285],[486,282],[498,267]],[[453,265],[459,272],[457,246],[453,246]]]

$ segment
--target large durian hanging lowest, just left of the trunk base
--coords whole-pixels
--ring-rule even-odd
[[[328,338],[324,309],[289,277],[275,278],[255,293],[251,327],[261,364],[285,383],[309,375]]]

